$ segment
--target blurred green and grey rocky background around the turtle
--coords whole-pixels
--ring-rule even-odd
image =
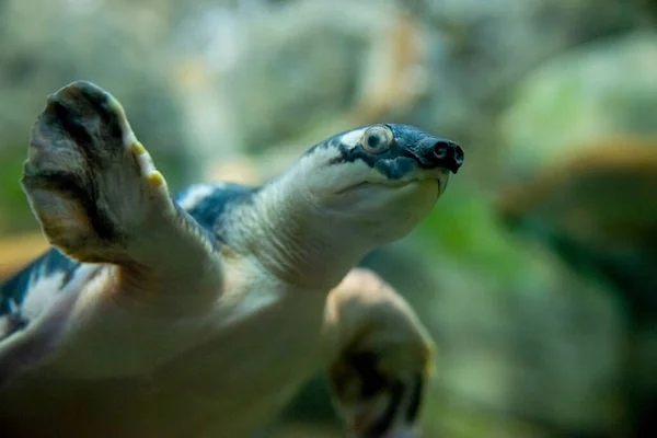
[[[73,80],[174,189],[408,123],[466,155],[364,261],[438,345],[425,436],[657,436],[655,23],[653,0],[0,0],[0,277],[43,249],[18,181]],[[339,437],[323,378],[262,434]]]

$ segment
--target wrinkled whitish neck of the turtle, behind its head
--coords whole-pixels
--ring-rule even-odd
[[[265,185],[231,216],[231,245],[300,288],[335,287],[374,245],[341,227],[291,176]]]

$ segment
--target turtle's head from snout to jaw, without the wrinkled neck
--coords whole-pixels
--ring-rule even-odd
[[[327,216],[382,243],[426,217],[462,163],[463,150],[453,141],[379,124],[331,137],[300,164],[303,186]]]

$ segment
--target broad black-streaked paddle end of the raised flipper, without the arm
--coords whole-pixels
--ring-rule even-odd
[[[82,262],[129,260],[140,232],[175,216],[166,181],[120,103],[90,82],[48,96],[23,170],[46,238]]]

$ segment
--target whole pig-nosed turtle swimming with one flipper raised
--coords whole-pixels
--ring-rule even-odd
[[[315,371],[357,437],[406,437],[433,344],[354,268],[463,161],[406,125],[335,135],[260,187],[172,198],[119,102],[50,95],[23,188],[54,249],[2,287],[0,436],[250,436]]]

